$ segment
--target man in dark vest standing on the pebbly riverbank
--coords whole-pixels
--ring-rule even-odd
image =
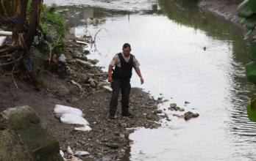
[[[113,70],[113,67],[115,67],[115,70]],[[129,113],[129,91],[131,89],[129,81],[132,77],[132,67],[141,78],[141,84],[143,84],[144,80],[141,75],[140,64],[138,63],[138,60],[135,59],[135,56],[131,54],[131,46],[128,43],[125,43],[123,45],[123,52],[115,54],[108,67],[108,81],[111,83],[113,89],[110,100],[110,119],[115,119],[120,89],[122,95],[121,115],[132,117],[132,114]]]

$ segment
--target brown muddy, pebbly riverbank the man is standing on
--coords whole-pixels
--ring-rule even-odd
[[[67,34],[68,54],[66,70],[40,71],[40,87],[15,78],[18,89],[10,77],[0,78],[0,111],[15,106],[29,105],[35,109],[43,124],[60,142],[60,149],[68,157],[67,147],[73,151],[88,151],[82,160],[120,160],[129,149],[129,134],[137,127],[160,127],[160,116],[157,104],[149,93],[142,89],[132,89],[130,111],[132,119],[120,116],[115,120],[108,119],[108,108],[111,92],[103,86],[110,86],[105,80],[106,72],[95,65],[96,59],[90,60],[82,50],[85,45],[78,44],[77,38]],[[43,64],[47,56],[32,47],[31,53],[35,63]],[[91,131],[75,131],[76,125],[68,125],[56,119],[53,113],[55,105],[68,105],[79,108],[85,113]],[[120,105],[120,103],[119,103]],[[120,107],[119,107],[120,110]],[[162,116],[168,118],[168,116]]]

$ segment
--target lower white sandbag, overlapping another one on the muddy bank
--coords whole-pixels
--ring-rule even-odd
[[[71,113],[65,113],[63,116],[60,117],[60,121],[65,124],[83,124],[83,125],[89,125],[89,122],[82,118],[82,116],[78,116]]]

